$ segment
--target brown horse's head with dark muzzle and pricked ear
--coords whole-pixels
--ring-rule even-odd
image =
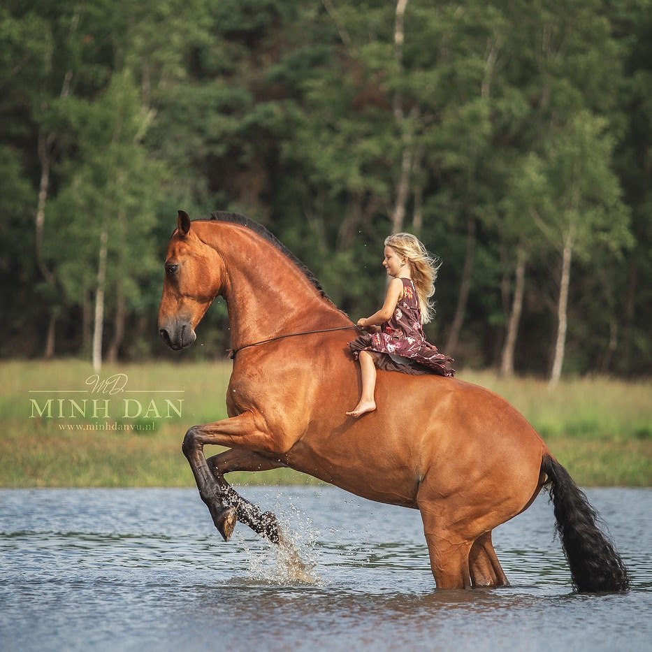
[[[159,335],[168,347],[184,349],[196,340],[195,328],[223,283],[221,256],[194,233],[187,212],[180,210],[166,254],[159,306]]]

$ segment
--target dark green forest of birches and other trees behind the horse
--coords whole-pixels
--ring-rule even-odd
[[[353,319],[412,231],[458,366],[649,376],[649,0],[3,0],[0,115],[4,358],[224,358],[157,338],[184,208]]]

